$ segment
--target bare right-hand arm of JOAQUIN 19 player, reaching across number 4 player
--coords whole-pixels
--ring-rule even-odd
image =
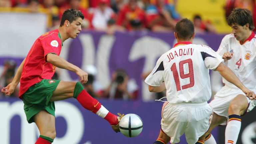
[[[234,84],[239,89],[241,89],[248,98],[250,98],[251,100],[255,99],[254,92],[246,88],[242,84],[242,82],[238,79],[238,77],[233,73],[233,71],[230,68],[228,68],[226,65],[224,65],[223,63],[220,63],[215,70],[217,70],[221,74],[221,76],[223,76],[228,82]]]

